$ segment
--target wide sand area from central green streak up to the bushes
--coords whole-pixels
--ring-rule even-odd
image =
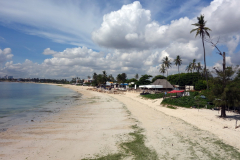
[[[215,144],[219,139],[240,149],[240,129],[235,129],[233,120],[217,118],[217,111],[169,109],[160,105],[162,99],[146,100],[136,93],[111,96],[126,104],[141,122],[147,145],[157,151],[160,159],[211,159],[217,154],[224,157],[225,151]]]

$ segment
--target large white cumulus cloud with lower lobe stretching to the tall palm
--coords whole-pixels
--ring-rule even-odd
[[[151,12],[136,1],[104,15],[101,27],[92,33],[93,40],[108,48],[162,48],[172,41],[188,42],[191,24],[187,17],[160,25],[151,20]]]

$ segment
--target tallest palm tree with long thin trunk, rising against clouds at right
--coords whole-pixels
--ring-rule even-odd
[[[210,37],[210,34],[208,33],[208,31],[211,31],[211,29],[208,27],[205,27],[207,21],[204,21],[204,15],[200,15],[200,17],[197,17],[197,19],[198,19],[198,23],[192,24],[194,26],[197,26],[197,28],[192,29],[190,33],[196,31],[195,37],[199,35],[202,38],[203,52],[204,52],[204,73],[207,80],[207,89],[208,89],[208,77],[206,74],[206,54],[205,54],[204,38],[206,35]]]

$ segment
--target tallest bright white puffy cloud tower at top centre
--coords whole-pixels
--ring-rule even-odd
[[[138,47],[144,45],[142,31],[150,20],[150,11],[136,1],[104,15],[101,28],[92,33],[92,38],[99,45],[109,48]]]

